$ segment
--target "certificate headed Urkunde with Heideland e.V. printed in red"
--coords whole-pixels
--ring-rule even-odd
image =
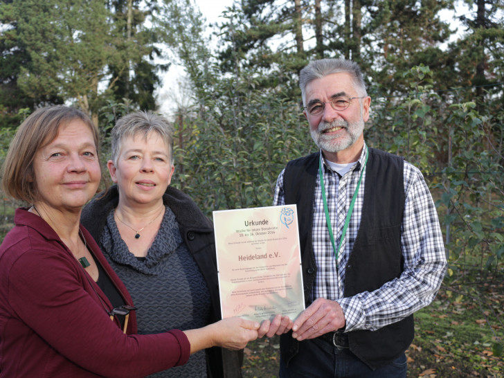
[[[222,317],[303,312],[296,206],[214,211],[213,221]]]

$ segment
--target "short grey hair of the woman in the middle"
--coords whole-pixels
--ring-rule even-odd
[[[147,138],[151,132],[161,136],[168,147],[170,163],[173,165],[173,126],[166,118],[152,111],[136,111],[119,118],[111,132],[111,160],[114,164],[117,165],[120,149],[127,138],[134,138],[138,134]]]

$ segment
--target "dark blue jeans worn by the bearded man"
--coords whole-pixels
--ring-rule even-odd
[[[404,353],[388,365],[371,370],[348,348],[338,350],[321,339],[301,341],[288,368],[280,358],[280,378],[406,378],[406,370]]]

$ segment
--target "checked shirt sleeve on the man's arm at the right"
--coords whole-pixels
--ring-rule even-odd
[[[345,330],[377,330],[429,305],[446,271],[444,242],[431,193],[420,170],[404,162],[404,218],[401,247],[404,271],[375,291],[338,300]]]

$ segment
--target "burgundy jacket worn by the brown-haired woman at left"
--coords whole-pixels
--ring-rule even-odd
[[[89,251],[125,303],[123,282],[80,227]],[[18,208],[0,246],[0,377],[143,377],[189,358],[183,332],[127,334],[111,321],[109,299],[44,219]]]

